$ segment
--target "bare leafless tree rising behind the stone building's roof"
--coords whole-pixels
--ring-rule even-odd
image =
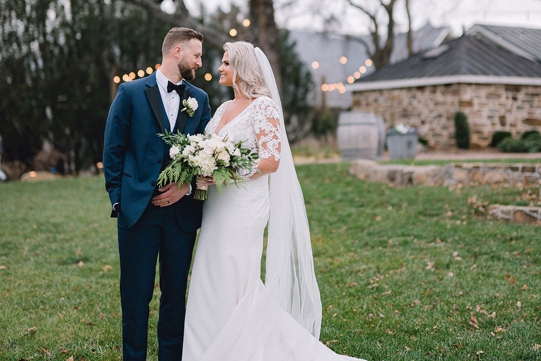
[[[393,13],[395,9],[395,5],[397,5],[398,0],[389,0],[386,4],[383,0],[379,0],[379,8],[376,10],[369,10],[367,6],[358,4],[357,2],[354,2],[353,0],[346,0],[350,5],[352,5],[354,8],[364,12],[366,14],[371,22],[372,26],[370,28],[370,35],[372,36],[372,43],[373,47],[370,47],[364,40],[361,38],[358,38],[360,42],[362,42],[365,47],[366,51],[372,58],[374,62],[374,66],[379,69],[382,67],[385,67],[385,65],[388,65],[391,60],[391,53],[393,51],[394,47],[394,18]],[[413,40],[412,40],[412,29],[411,29],[411,14],[410,14],[410,2],[409,0],[406,0],[406,12],[408,16],[408,32],[407,32],[407,46],[408,51],[410,52],[410,55],[413,54]],[[385,13],[387,15],[387,35],[385,41],[382,43],[381,41],[381,24],[378,19],[378,10],[384,9]]]

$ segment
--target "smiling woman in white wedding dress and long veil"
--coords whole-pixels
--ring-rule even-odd
[[[226,43],[223,103],[206,132],[246,141],[257,169],[243,188],[210,187],[188,292],[184,361],[358,360],[319,342],[321,300],[306,209],[271,65],[247,42]],[[204,179],[212,184],[209,179]],[[263,232],[268,224],[265,284]]]

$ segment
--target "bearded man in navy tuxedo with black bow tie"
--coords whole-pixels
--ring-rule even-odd
[[[182,357],[188,270],[202,202],[193,199],[192,185],[187,183],[157,188],[170,146],[156,134],[203,133],[210,120],[208,95],[187,82],[201,67],[202,42],[203,35],[195,30],[169,30],[161,68],[121,84],[107,117],[103,168],[111,217],[117,217],[124,361],[146,360],[158,255],[162,292],[158,358]],[[189,97],[197,101],[193,116],[182,103]]]

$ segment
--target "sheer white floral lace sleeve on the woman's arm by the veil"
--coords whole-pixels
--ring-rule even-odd
[[[259,160],[256,164],[261,174],[274,172],[280,163],[280,113],[274,101],[262,96],[259,103],[254,104],[254,133],[258,140]],[[248,179],[257,172],[253,169],[243,169],[239,175]]]

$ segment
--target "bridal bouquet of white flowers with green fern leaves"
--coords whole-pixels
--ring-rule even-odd
[[[235,173],[235,168],[248,168],[255,164],[258,154],[248,148],[242,148],[242,141],[233,143],[226,136],[158,134],[171,146],[169,156],[171,161],[158,176],[158,185],[167,183],[190,183],[194,176],[212,176],[216,188],[222,191],[223,185],[229,186],[234,181],[240,187],[242,179]],[[206,200],[207,186],[197,183],[195,199]]]

